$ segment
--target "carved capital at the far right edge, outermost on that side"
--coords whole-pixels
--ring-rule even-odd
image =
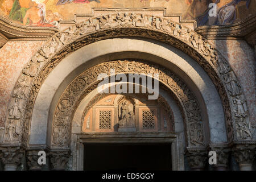
[[[233,155],[241,171],[252,171],[255,158],[255,145],[239,144],[233,148]]]

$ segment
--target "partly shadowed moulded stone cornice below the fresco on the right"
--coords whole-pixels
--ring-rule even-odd
[[[236,39],[245,38],[249,44],[255,45],[256,35],[256,14],[249,16],[242,22],[224,26],[202,26],[195,31],[207,39]],[[254,37],[254,40],[248,37]]]

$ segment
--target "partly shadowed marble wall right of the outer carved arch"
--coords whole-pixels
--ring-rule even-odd
[[[250,112],[250,121],[256,126],[255,109],[255,51],[245,40],[210,40],[229,61],[242,84]]]

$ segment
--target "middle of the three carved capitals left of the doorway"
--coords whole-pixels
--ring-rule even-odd
[[[27,165],[31,171],[40,171],[43,165],[38,164],[39,150],[27,151]]]

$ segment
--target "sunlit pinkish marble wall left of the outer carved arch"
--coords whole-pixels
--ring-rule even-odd
[[[11,41],[0,49],[0,129],[4,127],[11,92],[22,68],[43,43],[42,41]]]

